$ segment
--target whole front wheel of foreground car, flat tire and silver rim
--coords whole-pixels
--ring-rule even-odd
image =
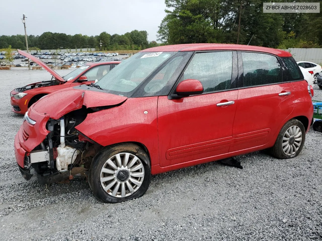
[[[94,196],[116,203],[141,197],[151,181],[149,157],[132,143],[103,148],[94,157],[88,181]]]

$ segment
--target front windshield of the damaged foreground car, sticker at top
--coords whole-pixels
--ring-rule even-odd
[[[113,68],[96,85],[111,94],[131,94],[158,66],[177,52],[139,52]]]

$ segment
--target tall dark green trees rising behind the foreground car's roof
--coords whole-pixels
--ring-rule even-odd
[[[241,16],[239,44],[251,40],[250,45],[279,49],[322,47],[322,11],[263,13],[263,1],[258,0],[165,3],[168,9],[158,31],[158,40],[163,44],[236,43]]]

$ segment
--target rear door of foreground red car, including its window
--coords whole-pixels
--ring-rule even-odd
[[[229,152],[266,148],[294,108],[294,89],[290,82],[282,81],[277,57],[240,52],[241,59],[243,75]]]

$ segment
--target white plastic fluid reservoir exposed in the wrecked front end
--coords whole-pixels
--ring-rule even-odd
[[[65,145],[59,145],[57,147],[57,154],[56,168],[59,172],[66,172],[68,165],[74,163],[76,156],[79,154],[79,150]]]

